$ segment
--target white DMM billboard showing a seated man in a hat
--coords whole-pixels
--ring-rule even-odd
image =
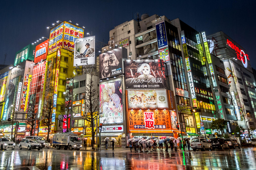
[[[75,40],[74,66],[95,64],[95,36]]]

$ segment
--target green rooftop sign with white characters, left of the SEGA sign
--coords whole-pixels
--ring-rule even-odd
[[[36,45],[29,44],[16,52],[14,66],[19,63],[22,63],[26,60],[33,60],[34,61],[34,54],[35,54]]]

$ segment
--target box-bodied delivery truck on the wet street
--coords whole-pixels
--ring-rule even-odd
[[[56,133],[53,136],[52,145],[57,149],[64,148],[65,150],[79,150],[82,148],[82,139],[72,132],[68,133]]]

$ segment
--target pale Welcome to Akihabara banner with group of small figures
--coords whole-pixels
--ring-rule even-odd
[[[166,90],[128,90],[128,108],[168,108]]]

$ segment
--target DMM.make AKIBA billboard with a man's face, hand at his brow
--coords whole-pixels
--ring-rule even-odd
[[[100,54],[100,79],[122,74],[123,58],[127,58],[127,49],[123,47]]]

